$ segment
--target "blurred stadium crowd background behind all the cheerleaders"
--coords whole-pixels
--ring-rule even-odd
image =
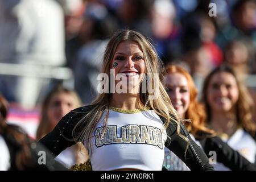
[[[165,65],[191,73],[199,91],[212,69],[229,64],[256,102],[255,0],[0,0],[8,121],[36,138],[42,102],[59,84],[90,104],[104,49],[120,28],[145,35]]]

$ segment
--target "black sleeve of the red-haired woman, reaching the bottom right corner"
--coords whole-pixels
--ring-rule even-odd
[[[256,168],[247,159],[243,158],[238,151],[233,150],[219,137],[208,137],[199,139],[206,154],[210,151],[216,152],[217,162],[223,163],[226,167],[235,171],[255,171]]]

